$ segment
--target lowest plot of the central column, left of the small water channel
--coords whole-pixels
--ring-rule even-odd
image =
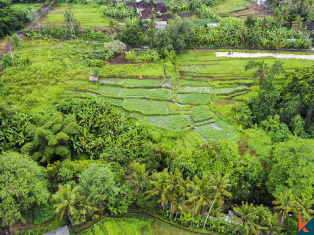
[[[190,119],[183,114],[164,115],[164,116],[146,116],[146,123],[172,130],[180,130],[183,127],[191,125]]]

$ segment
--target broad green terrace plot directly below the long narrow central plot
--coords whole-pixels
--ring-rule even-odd
[[[146,115],[169,113],[166,101],[146,100],[142,98],[127,98],[122,107],[129,112],[141,112]]]

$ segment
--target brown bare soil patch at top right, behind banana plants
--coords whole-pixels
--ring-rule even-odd
[[[246,4],[244,5],[246,7],[245,10],[242,11],[236,11],[232,12],[231,15],[241,18],[241,19],[246,19],[249,15],[252,15],[254,18],[257,17],[263,17],[263,16],[272,16],[273,11],[267,8],[263,8],[259,5],[252,5],[252,4]]]

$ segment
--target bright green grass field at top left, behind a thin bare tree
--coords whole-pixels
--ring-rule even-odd
[[[74,17],[81,22],[83,28],[99,27],[107,28],[109,26],[109,18],[105,17],[103,11],[106,6],[95,5],[61,5],[51,11],[44,19],[49,20],[51,24],[59,26],[64,24],[64,11],[71,9]]]

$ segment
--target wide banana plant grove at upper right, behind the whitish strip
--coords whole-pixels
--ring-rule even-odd
[[[309,49],[311,47],[311,40],[306,39],[303,33],[298,34],[292,29],[270,27],[267,24],[263,20],[259,20],[252,30],[241,19],[221,19],[215,26],[195,27],[195,42],[199,46],[248,46],[275,48],[276,50],[279,48]]]

